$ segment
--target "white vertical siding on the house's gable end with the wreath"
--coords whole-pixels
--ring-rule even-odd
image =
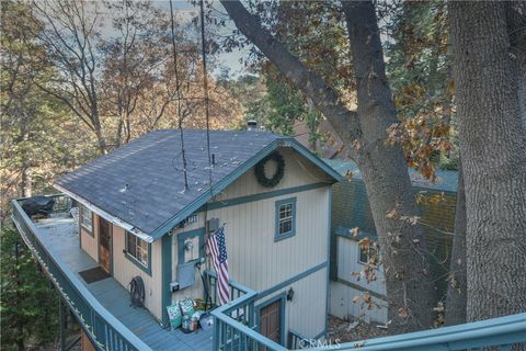
[[[290,149],[286,148],[279,152],[285,159],[285,176],[275,188],[268,189],[259,184],[254,171],[251,169],[210,202],[327,181],[327,176],[304,157],[296,152],[293,154]],[[230,279],[262,292],[316,265],[328,262],[329,193],[328,183],[328,186],[299,193],[208,211],[208,219],[219,218],[220,224],[226,223]],[[275,202],[290,197],[297,199],[296,235],[274,241]],[[176,235],[204,227],[204,213],[197,215],[197,223],[174,230],[172,238],[173,280],[176,280]],[[317,336],[323,331],[325,326],[327,269],[320,269],[316,273],[265,296],[256,302],[256,305],[293,286],[294,299],[286,303],[286,331],[288,328],[294,328],[307,337]],[[174,293],[172,298],[203,297],[197,270],[195,280],[194,286]]]

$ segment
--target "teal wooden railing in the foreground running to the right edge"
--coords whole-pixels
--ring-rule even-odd
[[[208,274],[208,282],[209,291],[213,292],[213,302],[217,305],[217,296],[214,293],[216,290],[214,273]],[[253,306],[258,293],[236,282],[230,282],[230,288],[233,301],[211,312],[216,318],[214,350],[287,350],[255,331]],[[345,343],[330,337],[319,340],[308,339],[294,330],[289,330],[287,341],[289,350],[474,351],[490,347],[492,350],[524,350],[521,347],[513,346],[526,343],[526,313]]]

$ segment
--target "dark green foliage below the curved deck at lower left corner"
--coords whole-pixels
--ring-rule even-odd
[[[58,295],[16,230],[4,226],[0,236],[1,349],[26,350],[30,343],[54,342],[58,338]]]

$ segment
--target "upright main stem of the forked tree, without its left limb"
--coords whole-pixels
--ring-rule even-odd
[[[342,4],[364,136],[358,166],[385,261],[389,328],[395,332],[430,328],[436,293],[428,256],[420,226],[403,219],[418,216],[419,208],[401,147],[385,143],[386,131],[397,118],[375,8],[371,1],[344,1]],[[393,210],[398,214],[389,218],[387,213]]]

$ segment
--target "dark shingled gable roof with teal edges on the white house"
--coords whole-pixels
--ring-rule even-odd
[[[210,131],[208,189],[205,131],[184,131],[188,190],[180,132],[149,133],[61,177],[56,185],[157,240],[279,146],[289,146],[334,180],[340,174],[289,137],[268,132]]]

